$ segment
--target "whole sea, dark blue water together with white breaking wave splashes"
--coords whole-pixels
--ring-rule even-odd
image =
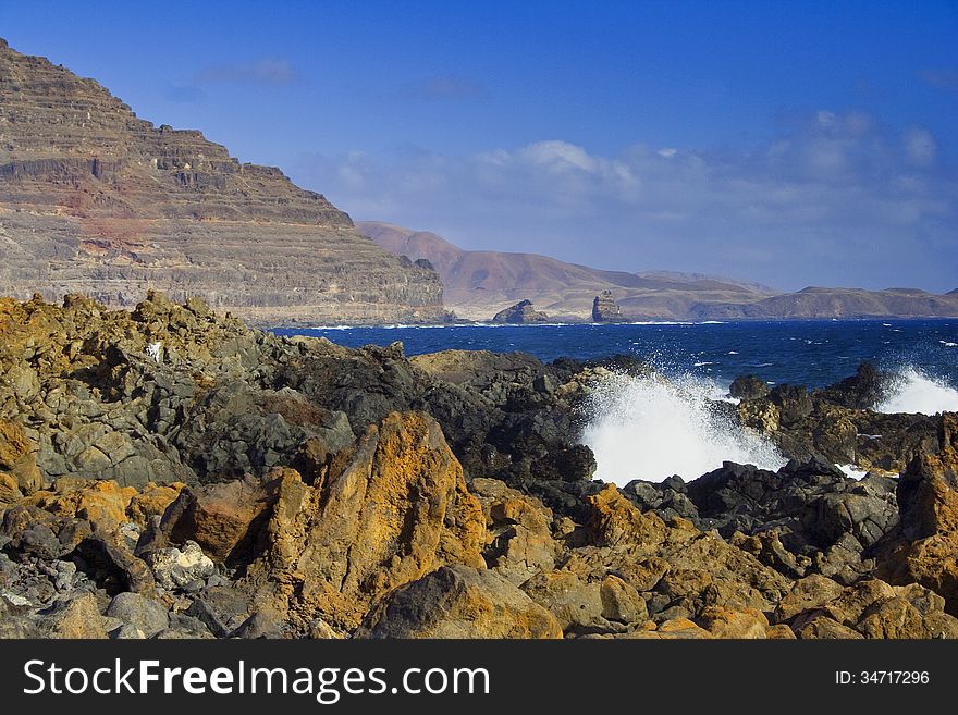
[[[883,412],[958,411],[958,320],[788,320],[532,325],[384,325],[277,329],[348,347],[403,343],[406,355],[445,349],[521,350],[543,362],[630,354],[660,377],[611,374],[581,415],[580,441],[597,478],[626,484],[695,479],[725,460],[777,469],[786,459],[765,436],[729,420],[716,402],[732,381],[834,384],[870,360],[889,373]],[[851,478],[864,472],[838,465]]]

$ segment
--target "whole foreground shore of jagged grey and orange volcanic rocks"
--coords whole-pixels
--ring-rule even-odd
[[[744,378],[788,466],[594,482],[582,406],[644,369],[2,299],[0,634],[958,637],[958,416]]]

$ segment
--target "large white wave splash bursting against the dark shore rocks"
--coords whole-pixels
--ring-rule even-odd
[[[595,476],[627,484],[672,474],[696,479],[724,460],[778,469],[785,459],[756,432],[710,403],[727,399],[716,382],[693,375],[665,379],[614,374],[592,396],[582,442],[595,454]]]

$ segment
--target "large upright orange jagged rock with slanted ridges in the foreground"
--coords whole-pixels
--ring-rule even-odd
[[[482,509],[426,415],[390,415],[328,484],[288,470],[277,494],[249,574],[300,627],[320,615],[355,627],[378,596],[442,564],[486,566]]]

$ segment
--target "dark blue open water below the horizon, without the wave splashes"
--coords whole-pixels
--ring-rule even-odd
[[[549,362],[630,353],[665,373],[727,384],[746,373],[771,384],[833,384],[862,360],[914,368],[958,386],[958,320],[789,320],[704,323],[299,328],[281,335],[322,336],[340,345],[389,345],[406,355],[444,349],[524,350]]]

